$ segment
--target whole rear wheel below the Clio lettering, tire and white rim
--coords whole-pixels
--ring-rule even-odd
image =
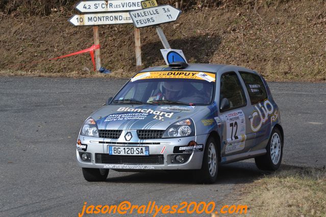
[[[260,170],[275,171],[279,169],[283,155],[282,135],[278,128],[274,128],[271,132],[266,154],[255,157],[255,162]]]

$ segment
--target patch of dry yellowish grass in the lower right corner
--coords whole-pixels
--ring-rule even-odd
[[[248,216],[326,216],[326,171],[287,168],[244,189]]]

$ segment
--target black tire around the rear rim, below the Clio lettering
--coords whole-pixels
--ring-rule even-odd
[[[274,161],[272,159],[272,153],[271,149],[275,149],[276,146],[274,144],[272,144],[272,138],[274,136],[277,136],[280,139],[280,152],[278,155],[280,155],[279,160],[277,161],[277,159],[274,158]],[[272,148],[271,148],[272,146]],[[280,132],[280,130],[276,127],[273,128],[271,134],[270,134],[270,138],[268,140],[268,144],[266,146],[266,154],[262,155],[262,156],[258,156],[255,157],[255,162],[256,165],[258,167],[258,169],[260,170],[266,170],[266,171],[275,171],[277,169],[279,169],[280,165],[281,165],[281,161],[282,161],[282,156],[283,156],[283,138],[282,138],[282,134]],[[275,155],[275,152],[274,152]]]

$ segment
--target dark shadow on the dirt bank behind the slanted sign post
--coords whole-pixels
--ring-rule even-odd
[[[209,63],[211,57],[221,44],[221,37],[216,35],[183,37],[181,39],[169,40],[169,44],[173,49],[182,49],[188,62]],[[141,46],[142,53],[146,54],[142,57],[144,67],[153,66],[154,62],[162,62],[160,49],[163,48],[159,40],[152,43],[144,43]]]

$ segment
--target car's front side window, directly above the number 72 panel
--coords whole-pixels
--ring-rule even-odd
[[[221,76],[220,102],[223,98],[229,100],[228,110],[246,105],[245,94],[235,72],[228,72]]]

